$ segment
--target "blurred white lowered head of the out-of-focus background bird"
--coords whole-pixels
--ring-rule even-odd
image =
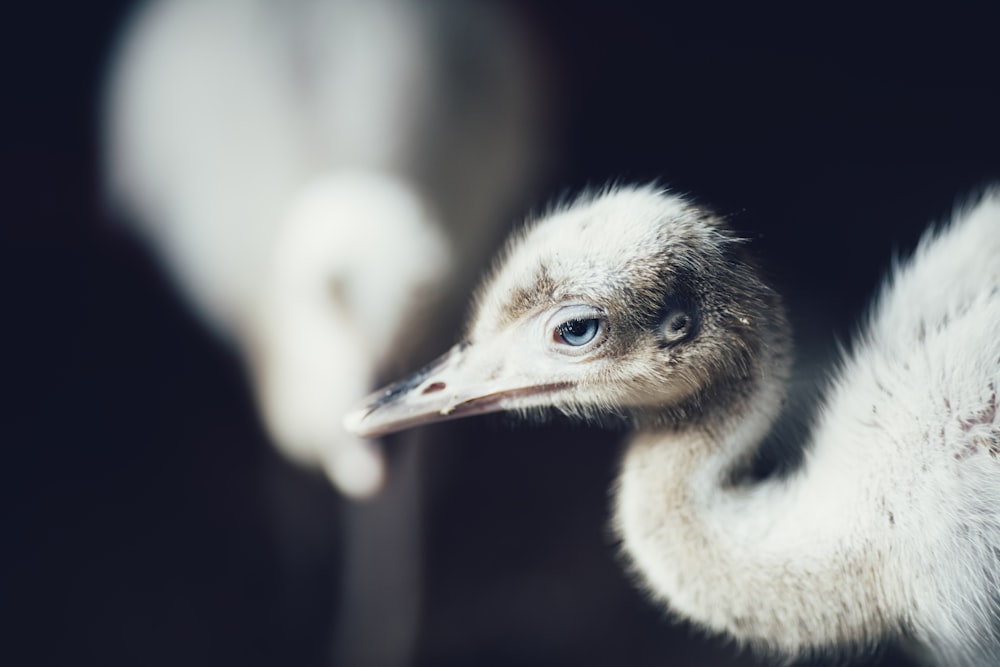
[[[451,247],[423,198],[388,174],[341,170],[307,184],[278,226],[255,312],[255,389],[272,439],[368,496],[386,471],[340,414],[405,358],[451,273]]]

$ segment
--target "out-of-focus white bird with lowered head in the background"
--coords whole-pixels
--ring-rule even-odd
[[[426,337],[532,182],[524,44],[440,0],[160,0],[106,95],[113,201],[245,360],[274,442],[378,489],[339,412]]]

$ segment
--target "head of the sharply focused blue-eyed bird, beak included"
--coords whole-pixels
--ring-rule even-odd
[[[655,188],[580,198],[512,240],[462,342],[345,426],[372,436],[540,408],[682,422],[749,395],[785,372],[787,336],[744,254],[719,218]]]

